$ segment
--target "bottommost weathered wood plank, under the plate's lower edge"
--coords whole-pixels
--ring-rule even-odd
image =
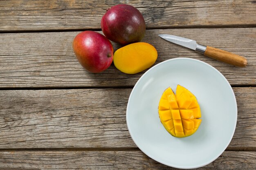
[[[225,151],[202,170],[255,170],[256,152]],[[6,169],[7,168],[7,169]],[[178,170],[147,157],[141,151],[0,152],[5,170]],[[23,169],[22,169],[23,170]]]

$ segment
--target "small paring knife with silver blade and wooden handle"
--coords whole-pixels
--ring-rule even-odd
[[[205,56],[226,62],[228,64],[232,64],[234,66],[245,67],[247,65],[247,60],[245,57],[229,53],[221,49],[216,49],[211,46],[203,46],[201,44],[197,44],[195,40],[168,34],[160,34],[159,37],[169,42],[173,42],[175,44],[179,44],[181,46],[195,50],[196,52],[202,53]]]

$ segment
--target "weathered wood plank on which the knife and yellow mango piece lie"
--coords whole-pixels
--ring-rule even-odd
[[[72,50],[77,33],[1,34],[0,88],[134,86],[145,72],[128,75],[112,65],[102,73],[88,73]],[[192,38],[198,43],[243,55],[248,65],[238,68],[213,60],[159,38],[161,33]],[[175,57],[191,57],[216,67],[231,85],[256,84],[256,28],[154,29],[146,31],[143,41],[157,49],[159,56],[155,64]],[[120,48],[116,43],[113,46],[115,50]]]

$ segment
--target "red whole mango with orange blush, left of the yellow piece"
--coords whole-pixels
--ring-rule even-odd
[[[113,61],[111,42],[95,31],[83,31],[76,35],[73,50],[79,63],[92,73],[106,70]]]

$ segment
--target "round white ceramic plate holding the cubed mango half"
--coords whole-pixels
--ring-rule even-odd
[[[170,135],[158,116],[159,99],[169,86],[189,89],[200,104],[202,123],[189,137]],[[227,79],[211,65],[175,58],[150,68],[133,88],[127,105],[130,135],[150,158],[175,168],[205,166],[227,148],[236,128],[237,105]]]

